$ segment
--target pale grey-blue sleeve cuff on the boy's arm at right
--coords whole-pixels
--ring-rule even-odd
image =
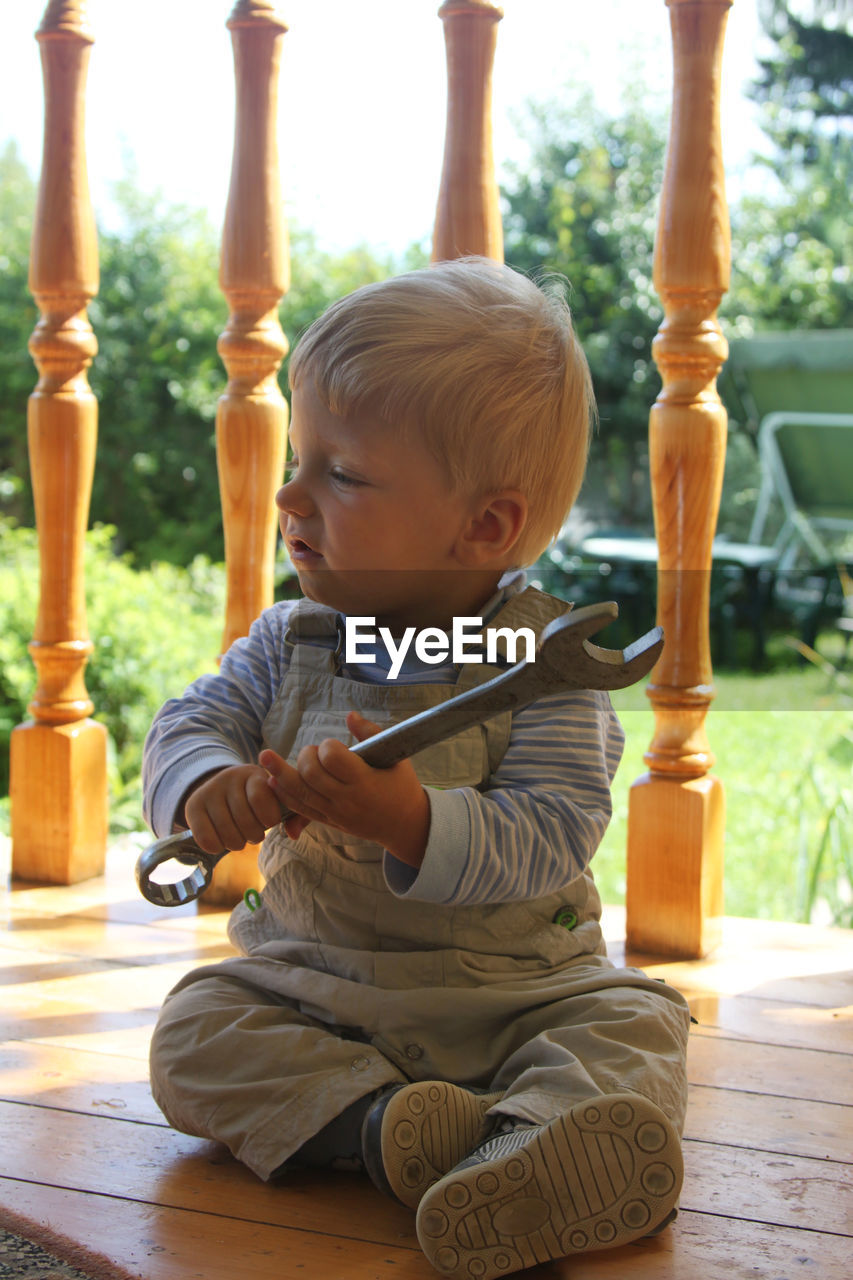
[[[429,838],[419,868],[386,851],[384,874],[394,897],[420,902],[452,902],[462,878],[471,841],[471,819],[461,788],[425,787],[429,796]]]

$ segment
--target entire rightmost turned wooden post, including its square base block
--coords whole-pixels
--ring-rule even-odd
[[[716,310],[729,284],[729,221],[720,143],[720,64],[731,0],[667,0],[674,93],[654,252],[665,320],[653,343],[663,387],[649,451],[660,548],[658,622],[666,644],[648,695],[649,772],[633,786],[628,941],[701,956],[722,916],[722,783],[704,719],[713,698],[708,641],[711,544],[726,443],[716,376],[727,346]]]

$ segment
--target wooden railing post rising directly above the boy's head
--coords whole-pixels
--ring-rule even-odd
[[[492,67],[503,12],[488,0],[444,0],[447,49],[444,163],[433,261],[467,253],[503,261],[503,228],[492,151]]]

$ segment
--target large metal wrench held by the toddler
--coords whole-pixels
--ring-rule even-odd
[[[485,684],[392,724],[350,750],[374,768],[388,769],[425,746],[501,712],[519,710],[544,694],[566,689],[626,689],[647,676],[657,662],[663,632],[653,627],[626,649],[602,649],[592,644],[589,636],[617,616],[619,605],[612,600],[571,609],[543,628],[533,662],[516,662]],[[283,812],[282,818],[287,817]],[[214,867],[225,852],[207,854],[196,845],[191,831],[179,831],[155,840],[140,854],[136,883],[155,906],[182,906],[207,887]],[[181,881],[152,881],[154,869],[170,859],[192,867],[192,872]]]

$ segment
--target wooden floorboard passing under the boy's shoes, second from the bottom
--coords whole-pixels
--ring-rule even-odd
[[[257,1185],[220,1148],[170,1129],[108,1116],[0,1103],[4,1170],[20,1181],[118,1196],[169,1208],[228,1204],[229,1217],[298,1230],[329,1229],[328,1176],[298,1185]],[[749,1151],[688,1139],[681,1206],[695,1212],[747,1217],[779,1226],[844,1234],[853,1215],[853,1166],[826,1158]],[[338,1184],[341,1179],[337,1180]],[[827,1196],[827,1189],[833,1194]],[[361,1179],[336,1193],[336,1231],[380,1243],[405,1236],[414,1247],[411,1215],[375,1198]]]

